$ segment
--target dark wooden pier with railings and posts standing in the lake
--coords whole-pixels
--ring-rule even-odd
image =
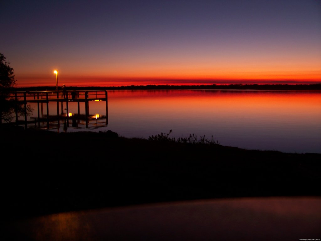
[[[16,124],[24,124],[25,129],[28,128],[28,123],[35,123],[35,126],[40,127],[40,122],[47,122],[47,129],[50,129],[50,123],[57,121],[58,129],[60,121],[64,121],[64,125],[69,127],[78,127],[80,121],[85,121],[86,129],[90,121],[105,119],[105,125],[108,125],[108,93],[105,90],[65,90],[65,91],[17,91],[12,93],[12,97],[17,102],[24,104],[24,121],[18,120],[18,112],[16,111]],[[106,102],[106,114],[90,114],[89,102],[104,101]],[[49,102],[56,102],[55,114],[49,114]],[[27,119],[28,103],[37,103],[37,116]],[[77,103],[77,113],[69,113],[69,104]],[[85,103],[84,113],[81,113],[80,103]],[[46,113],[44,113],[43,105],[46,105]],[[59,107],[60,106],[60,107]],[[65,109],[64,109],[65,106]],[[66,110],[66,112],[64,112]]]

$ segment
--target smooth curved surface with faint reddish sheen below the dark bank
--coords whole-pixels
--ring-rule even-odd
[[[320,237],[320,197],[231,198],[66,212],[6,228],[9,240],[298,240]]]

